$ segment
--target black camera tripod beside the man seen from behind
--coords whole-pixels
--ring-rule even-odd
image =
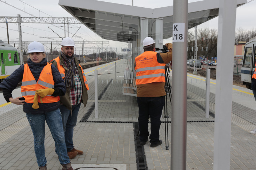
[[[172,101],[171,101],[171,97],[172,97],[172,94],[171,94],[171,85],[170,85],[170,75],[168,74],[170,73],[170,68],[169,68],[169,63],[165,65],[165,84],[164,84],[164,90],[166,92],[166,96],[164,96],[164,129],[165,129],[165,148],[166,150],[169,150],[169,134],[168,134],[168,110],[167,110],[167,103],[168,103],[168,95],[169,95],[169,98],[170,98],[170,102],[171,102],[171,105],[172,105]],[[166,133],[167,131],[167,133]],[[135,137],[135,139],[138,138],[138,135],[139,135],[139,132],[140,130],[138,130],[138,133]],[[167,138],[166,138],[167,136]]]

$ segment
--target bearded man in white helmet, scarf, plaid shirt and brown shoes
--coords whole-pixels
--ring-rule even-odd
[[[50,63],[58,68],[67,88],[65,96],[60,97],[60,111],[68,156],[69,159],[72,159],[76,155],[84,153],[75,149],[73,145],[73,130],[81,103],[84,104],[84,107],[86,106],[89,87],[84,71],[78,59],[74,57],[74,40],[66,37],[62,40],[61,45],[61,54]]]

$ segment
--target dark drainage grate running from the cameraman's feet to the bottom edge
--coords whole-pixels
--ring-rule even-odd
[[[140,139],[139,137],[137,137],[137,134],[139,132],[139,123],[133,122],[133,128],[137,170],[148,170],[144,146],[140,145]]]

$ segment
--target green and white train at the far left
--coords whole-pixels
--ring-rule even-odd
[[[0,62],[0,82],[20,67],[17,49],[2,40],[0,40]]]

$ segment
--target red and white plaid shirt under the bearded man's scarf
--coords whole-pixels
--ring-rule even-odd
[[[64,61],[65,65],[67,66],[67,63]],[[82,83],[80,81],[79,75],[78,75],[78,71],[77,71],[77,67],[76,67],[76,75],[74,76],[75,79],[75,88],[70,89],[70,102],[71,105],[78,105],[81,103],[81,99],[82,99],[82,94],[83,94],[83,87],[82,87]]]

